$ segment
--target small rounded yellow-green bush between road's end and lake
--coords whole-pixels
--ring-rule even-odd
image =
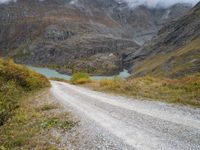
[[[73,84],[85,84],[91,82],[90,76],[83,72],[74,73],[70,81]]]

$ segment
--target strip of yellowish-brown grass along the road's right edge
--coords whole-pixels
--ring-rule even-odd
[[[200,74],[180,79],[145,76],[128,80],[101,80],[86,86],[98,91],[200,107]]]

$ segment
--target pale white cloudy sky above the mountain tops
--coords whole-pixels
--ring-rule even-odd
[[[6,3],[8,1],[15,1],[15,0],[0,0],[0,3]],[[117,0],[117,1],[119,1],[119,0]],[[122,1],[126,1],[129,4],[129,6],[131,6],[131,7],[145,5],[145,6],[154,8],[157,6],[169,7],[176,3],[191,3],[191,4],[195,5],[200,0],[122,0]]]

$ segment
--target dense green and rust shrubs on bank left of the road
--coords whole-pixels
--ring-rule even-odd
[[[50,86],[47,78],[11,60],[0,59],[0,125],[19,107],[23,95]]]

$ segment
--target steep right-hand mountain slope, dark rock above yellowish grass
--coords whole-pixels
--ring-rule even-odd
[[[134,76],[181,77],[200,72],[200,3],[164,26],[144,48],[124,58]]]

